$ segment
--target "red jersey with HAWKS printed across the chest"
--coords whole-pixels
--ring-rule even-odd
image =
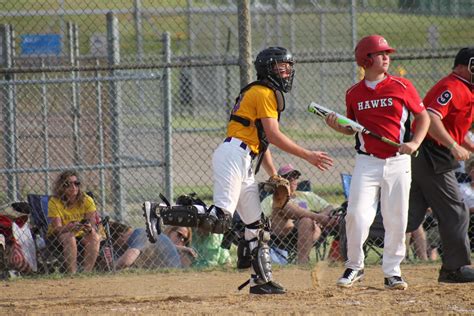
[[[346,92],[347,117],[368,130],[398,143],[404,142],[410,132],[410,112],[424,110],[423,102],[413,84],[387,74],[375,89],[365,80]],[[369,135],[356,134],[356,150],[378,158],[395,156],[398,148]]]

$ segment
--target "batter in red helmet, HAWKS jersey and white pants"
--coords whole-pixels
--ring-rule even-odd
[[[364,37],[357,44],[357,64],[365,77],[346,92],[347,116],[368,130],[402,145],[397,148],[365,134],[356,134],[355,168],[346,215],[346,270],[337,285],[350,287],[364,275],[363,244],[369,235],[380,202],[385,228],[382,270],[389,289],[407,288],[400,263],[405,258],[405,231],[411,182],[411,157],[429,126],[429,116],[412,83],[387,73],[395,50],[380,35]],[[410,113],[418,129],[410,135]],[[336,131],[354,131],[337,123],[334,114],[326,122]]]

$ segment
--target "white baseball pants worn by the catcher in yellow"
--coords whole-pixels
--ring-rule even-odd
[[[214,176],[214,205],[232,215],[237,209],[245,224],[260,219],[262,207],[258,184],[252,171],[250,150],[241,147],[241,141],[232,138],[220,144],[212,156]]]

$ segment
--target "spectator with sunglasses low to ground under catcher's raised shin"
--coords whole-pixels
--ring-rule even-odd
[[[193,233],[190,227],[166,226],[163,233],[171,239],[181,257],[183,268],[189,268],[197,258],[196,250],[191,247]]]

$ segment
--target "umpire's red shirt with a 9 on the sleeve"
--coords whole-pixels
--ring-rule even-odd
[[[458,143],[464,142],[464,136],[471,127],[473,86],[455,73],[436,83],[423,99],[426,110],[438,115],[446,131]],[[416,128],[416,126],[414,126]],[[428,134],[429,139],[433,138]],[[439,142],[437,142],[439,144]]]

